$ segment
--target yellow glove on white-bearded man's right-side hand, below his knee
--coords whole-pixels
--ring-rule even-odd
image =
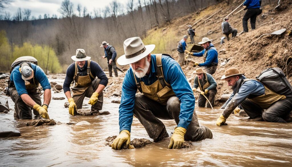
[[[180,147],[182,147],[182,144],[185,142],[185,132],[187,132],[187,129],[183,127],[174,128],[174,132],[171,136],[168,149],[180,149]]]

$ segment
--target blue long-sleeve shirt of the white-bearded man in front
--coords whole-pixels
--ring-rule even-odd
[[[179,64],[169,56],[162,56],[161,59],[164,79],[171,85],[173,92],[180,100],[180,115],[178,127],[186,128],[192,120],[192,114],[194,111],[195,99],[192,93],[192,89],[187,82],[187,78],[180,68]],[[149,76],[140,78],[141,82],[145,85],[151,85],[157,78],[156,70],[156,56],[151,55],[150,62],[151,71]],[[139,79],[137,78],[137,81]],[[135,104],[135,94],[137,92],[137,86],[135,83],[133,71],[131,68],[127,71],[123,86],[121,104],[119,106],[119,126],[120,132],[122,130],[128,130],[131,132],[131,124],[133,122],[133,109]]]

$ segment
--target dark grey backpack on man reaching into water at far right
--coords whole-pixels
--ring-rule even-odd
[[[280,68],[267,68],[256,79],[277,94],[292,96],[292,86]]]

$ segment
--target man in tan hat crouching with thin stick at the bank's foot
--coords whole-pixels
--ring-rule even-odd
[[[206,98],[203,95],[205,95],[211,105],[214,106],[215,95],[217,93],[217,82],[211,74],[204,72],[203,68],[197,68],[194,74],[197,74],[197,76],[194,79],[192,90],[196,92],[197,88],[200,88],[198,99],[199,107],[205,107],[206,105]],[[209,103],[207,104],[207,108],[212,108]]]

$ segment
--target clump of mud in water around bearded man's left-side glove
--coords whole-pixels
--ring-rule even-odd
[[[106,143],[105,145],[111,147],[112,142],[114,142],[114,139],[117,138],[117,136],[112,136],[112,137],[107,137],[105,139]],[[148,139],[133,139],[130,143],[129,147],[126,147],[126,144],[124,143],[122,145],[122,149],[132,149],[132,148],[140,148],[140,147],[145,147],[147,144],[151,144],[152,142]]]

